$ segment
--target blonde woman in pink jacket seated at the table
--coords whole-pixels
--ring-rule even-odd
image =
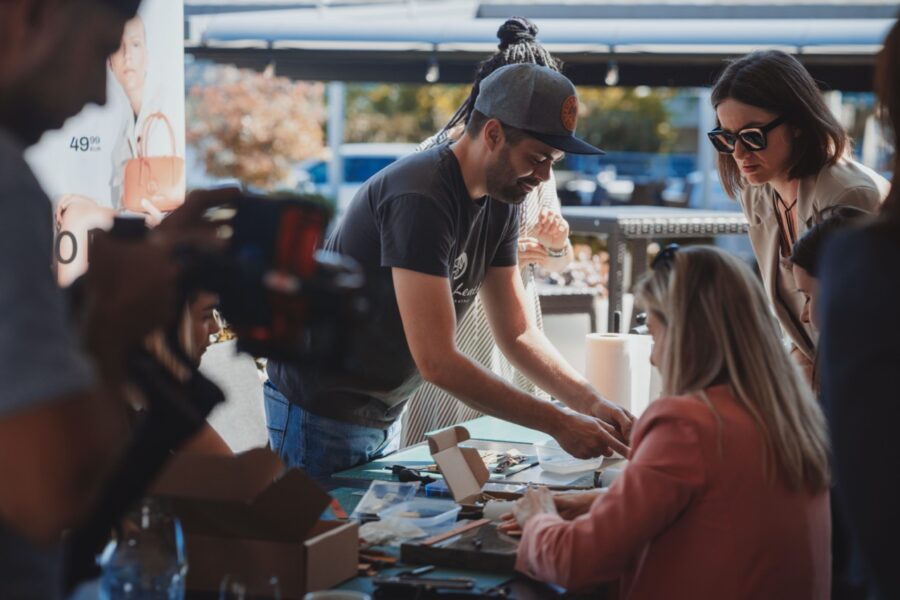
[[[825,422],[749,268],[708,247],[660,253],[638,285],[664,397],[606,493],[518,502],[517,569],[630,600],[825,599]]]

